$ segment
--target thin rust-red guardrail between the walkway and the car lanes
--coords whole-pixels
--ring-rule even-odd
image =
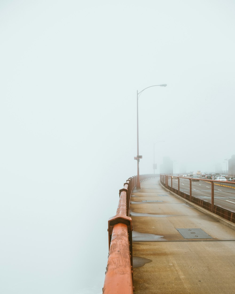
[[[235,223],[234,182],[162,174],[160,175],[160,182],[188,201]]]

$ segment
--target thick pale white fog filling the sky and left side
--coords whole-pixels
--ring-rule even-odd
[[[102,292],[119,189],[235,154],[235,4],[0,2],[4,294]]]

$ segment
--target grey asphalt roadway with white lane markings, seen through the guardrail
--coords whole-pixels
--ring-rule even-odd
[[[170,178],[168,185],[171,186]],[[179,185],[179,190],[189,195],[189,180],[180,178]],[[178,189],[178,179],[172,179],[172,186]],[[211,183],[209,181],[192,181],[192,196],[211,203]],[[220,186],[219,183],[214,182],[214,205],[235,211],[235,189]]]

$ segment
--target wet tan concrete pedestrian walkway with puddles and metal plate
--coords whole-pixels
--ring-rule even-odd
[[[234,293],[235,230],[209,214],[169,193],[159,179],[133,190],[135,294]]]

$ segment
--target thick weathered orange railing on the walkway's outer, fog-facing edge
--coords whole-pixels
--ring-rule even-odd
[[[156,175],[140,175],[140,181]],[[105,272],[103,294],[132,294],[132,222],[129,216],[130,197],[136,186],[137,176],[129,178],[119,190],[116,215],[108,220],[109,255]]]

